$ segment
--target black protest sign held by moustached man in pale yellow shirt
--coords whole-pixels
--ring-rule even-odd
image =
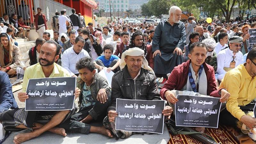
[[[29,79],[25,110],[52,111],[73,108],[76,78],[54,77]]]

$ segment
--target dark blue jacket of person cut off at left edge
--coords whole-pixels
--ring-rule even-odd
[[[9,108],[18,108],[18,105],[12,94],[12,84],[9,76],[0,71],[0,113]]]

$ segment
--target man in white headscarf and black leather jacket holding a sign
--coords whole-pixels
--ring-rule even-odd
[[[127,138],[132,132],[116,131],[115,118],[116,99],[130,100],[161,100],[156,84],[156,77],[152,68],[148,66],[148,61],[144,56],[144,51],[140,48],[130,48],[122,53],[120,63],[121,70],[112,77],[111,104],[108,107],[108,117],[103,121],[106,128],[110,129],[118,138]],[[172,108],[165,106],[162,114],[170,116]],[[120,135],[119,135],[120,134]]]

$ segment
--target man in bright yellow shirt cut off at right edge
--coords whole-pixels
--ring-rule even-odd
[[[220,83],[220,88],[230,92],[227,109],[220,113],[220,123],[239,128],[245,134],[256,128],[256,119],[252,117],[255,102],[251,103],[256,98],[255,76],[256,48],[253,48],[247,55],[246,63],[227,72]]]

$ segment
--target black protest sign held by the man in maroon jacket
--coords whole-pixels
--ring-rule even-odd
[[[220,98],[177,95],[175,104],[176,126],[218,128]]]

